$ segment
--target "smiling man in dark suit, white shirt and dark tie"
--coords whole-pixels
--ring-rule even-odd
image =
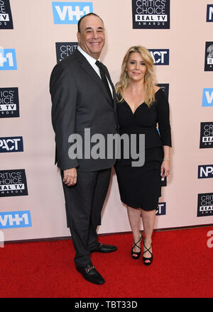
[[[104,23],[94,13],[78,23],[78,48],[55,65],[50,77],[52,122],[55,131],[55,160],[60,167],[65,194],[67,226],[75,247],[75,265],[84,279],[103,284],[104,278],[94,268],[91,252],[113,252],[117,248],[97,240],[97,225],[109,188],[115,158],[71,157],[70,135],[77,133],[85,142],[85,129],[91,135],[118,132],[116,95],[107,67],[97,60],[104,47]],[[90,143],[89,143],[90,144]],[[91,143],[91,149],[92,149]],[[106,154],[107,155],[107,154]]]

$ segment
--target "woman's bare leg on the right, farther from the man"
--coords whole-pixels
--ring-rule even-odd
[[[156,215],[156,210],[151,210],[151,211],[145,211],[143,209],[141,209],[141,217],[142,217],[142,221],[143,221],[143,230],[144,230],[144,234],[145,234],[145,238],[144,238],[144,245],[146,246],[146,248],[150,248],[151,247],[151,243],[152,243],[152,235],[153,235],[153,228],[155,225],[155,215]],[[146,248],[144,248],[143,252],[143,256],[146,258],[150,258],[151,257],[151,253],[146,251]],[[150,251],[152,252],[152,247],[150,248]],[[145,262],[150,262],[150,260],[146,260]]]

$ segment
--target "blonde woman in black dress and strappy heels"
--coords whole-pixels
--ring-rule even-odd
[[[141,46],[129,48],[116,84],[117,114],[120,135],[127,133],[130,138],[131,134],[145,134],[145,163],[142,167],[132,167],[132,159],[121,156],[115,170],[121,201],[127,205],[133,232],[131,255],[133,259],[140,257],[143,240],[146,265],[153,260],[152,234],[161,196],[160,180],[170,172],[169,105],[164,91],[156,87],[154,81],[150,52]],[[144,238],[140,232],[141,218]]]

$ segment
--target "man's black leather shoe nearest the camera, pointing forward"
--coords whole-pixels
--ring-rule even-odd
[[[102,275],[97,272],[97,269],[93,267],[91,264],[87,264],[84,267],[76,267],[77,271],[82,274],[82,277],[86,279],[88,282],[93,284],[102,285],[105,283]]]

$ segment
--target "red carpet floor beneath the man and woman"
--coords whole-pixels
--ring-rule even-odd
[[[1,298],[207,298],[213,294],[212,227],[153,234],[153,264],[131,259],[131,234],[108,235],[111,254],[92,262],[106,279],[90,284],[75,270],[72,240],[5,244],[0,248]],[[212,240],[213,245],[213,240]]]

